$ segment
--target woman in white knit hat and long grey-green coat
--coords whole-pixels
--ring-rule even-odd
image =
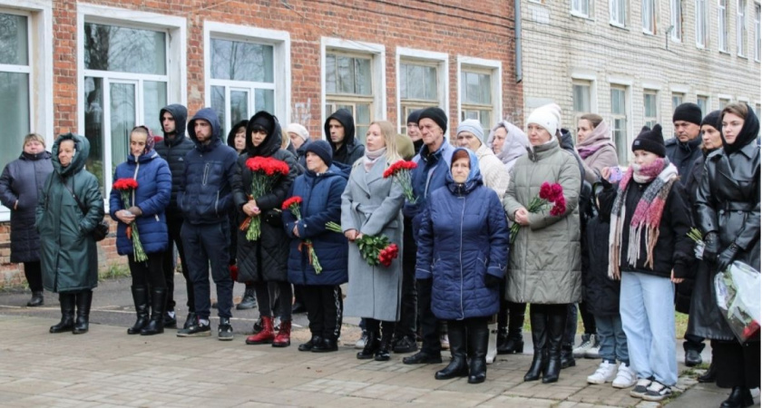
[[[508,218],[521,228],[511,244],[507,297],[530,303],[534,358],[524,381],[558,381],[567,307],[581,299],[580,216],[581,172],[577,160],[562,151],[556,137],[560,118],[547,107],[527,119],[531,148],[516,160],[503,199]],[[527,209],[542,183],[562,186],[565,209]]]

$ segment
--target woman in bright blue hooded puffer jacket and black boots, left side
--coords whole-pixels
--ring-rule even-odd
[[[132,274],[132,300],[138,315],[135,324],[127,329],[129,335],[164,333],[162,318],[167,303],[162,259],[169,246],[167,219],[164,209],[170,204],[172,175],[170,166],[153,150],[153,135],[145,126],[130,132],[130,155],[113,173],[113,180],[134,179],[138,188],[131,193],[128,206],[122,201],[122,191],[111,190],[109,211],[119,221],[116,228],[116,250],[126,255]],[[147,261],[135,261],[132,238],[127,227],[135,222],[140,232]],[[151,319],[149,320],[149,285],[151,286]]]

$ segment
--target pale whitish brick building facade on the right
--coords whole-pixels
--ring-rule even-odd
[[[524,115],[547,102],[563,127],[611,125],[620,164],[643,125],[672,136],[672,112],[747,102],[760,112],[760,4],[753,0],[523,0]]]

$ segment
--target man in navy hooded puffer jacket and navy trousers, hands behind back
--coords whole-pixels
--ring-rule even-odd
[[[217,287],[220,316],[219,340],[232,340],[230,309],[233,280],[230,277],[230,225],[228,213],[234,209],[233,188],[240,184],[238,152],[220,139],[217,112],[201,109],[188,122],[188,135],[195,144],[185,156],[185,172],[177,202],[184,217],[181,238],[193,282],[196,319],[178,331],[178,337],[210,335],[209,270]]]

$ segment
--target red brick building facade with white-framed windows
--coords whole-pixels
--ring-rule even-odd
[[[224,131],[267,110],[312,135],[338,108],[357,136],[408,112],[440,106],[485,128],[521,112],[513,2],[354,0],[0,0],[0,167],[28,132],[48,146],[68,131],[92,145],[87,168],[103,193],[128,152],[128,133],[161,134],[159,110],[211,106]],[[9,212],[0,210],[0,278],[8,264]],[[113,238],[103,266],[123,262]]]

